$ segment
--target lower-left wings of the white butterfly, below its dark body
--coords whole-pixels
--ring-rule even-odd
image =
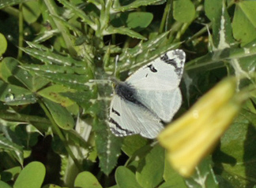
[[[145,138],[156,138],[164,128],[159,117],[117,94],[111,101],[109,126],[116,136],[140,134]]]

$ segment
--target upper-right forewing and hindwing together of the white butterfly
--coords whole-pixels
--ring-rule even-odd
[[[137,100],[165,122],[172,119],[182,103],[179,83],[184,63],[183,50],[171,50],[126,79],[136,88]]]

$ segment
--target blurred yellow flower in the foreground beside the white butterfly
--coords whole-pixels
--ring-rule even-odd
[[[181,175],[192,175],[238,114],[243,100],[237,98],[235,87],[234,78],[224,79],[158,136],[172,167]]]

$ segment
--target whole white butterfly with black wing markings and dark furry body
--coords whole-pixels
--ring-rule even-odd
[[[109,126],[116,136],[156,138],[182,103],[179,90],[186,54],[171,50],[115,86]]]

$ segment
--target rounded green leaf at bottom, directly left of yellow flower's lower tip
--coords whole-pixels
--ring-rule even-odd
[[[154,146],[136,171],[137,182],[145,188],[156,187],[163,181],[164,149]]]

